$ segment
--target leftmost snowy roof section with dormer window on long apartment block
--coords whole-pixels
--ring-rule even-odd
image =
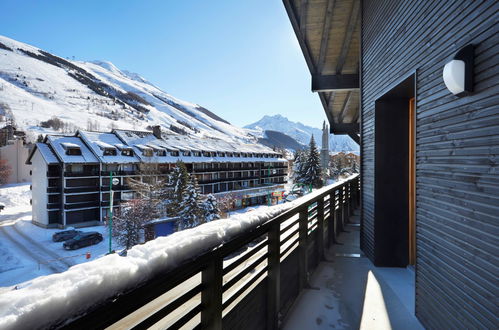
[[[48,135],[47,142],[64,163],[98,163],[99,160],[77,136]],[[79,148],[81,155],[67,154],[67,149]]]

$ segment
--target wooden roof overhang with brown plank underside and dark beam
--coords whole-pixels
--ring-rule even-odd
[[[283,2],[331,132],[357,135],[360,0]]]

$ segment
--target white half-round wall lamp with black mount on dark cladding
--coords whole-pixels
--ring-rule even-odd
[[[461,48],[452,61],[444,66],[445,86],[456,96],[473,92],[473,66],[475,46],[470,44]]]

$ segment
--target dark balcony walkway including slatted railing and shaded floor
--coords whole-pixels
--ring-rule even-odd
[[[161,321],[163,328],[292,329],[297,322],[315,322],[310,323],[313,326],[325,321],[326,317],[314,317],[320,311],[329,313],[330,324],[338,327],[344,321],[355,327],[363,312],[362,281],[365,284],[366,270],[373,269],[358,250],[354,210],[359,195],[358,176],[307,195],[300,204],[230,241],[94,304],[66,326],[148,328]],[[343,245],[334,244],[340,240]],[[336,297],[337,292],[344,296]],[[322,305],[313,313],[306,308],[310,295]],[[339,302],[325,303],[321,297]],[[352,310],[345,312],[344,307]],[[345,313],[351,313],[350,318]]]

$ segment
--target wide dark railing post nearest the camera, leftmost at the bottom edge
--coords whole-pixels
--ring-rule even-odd
[[[201,326],[222,329],[222,257],[217,255],[201,273]]]

